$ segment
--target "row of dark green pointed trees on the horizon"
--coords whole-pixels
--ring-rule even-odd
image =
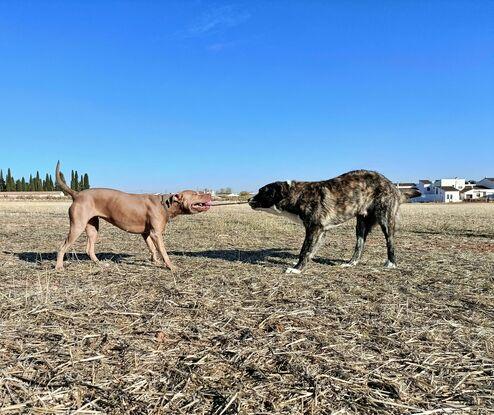
[[[67,183],[68,184],[68,183]],[[89,176],[87,173],[79,175],[77,170],[72,170],[70,179],[70,187],[74,190],[89,189]],[[20,179],[14,178],[10,168],[7,169],[7,174],[3,175],[3,170],[0,169],[0,192],[51,192],[53,190],[61,190],[51,174],[46,173],[42,179],[39,171],[36,175],[29,175],[29,180],[24,177]]]

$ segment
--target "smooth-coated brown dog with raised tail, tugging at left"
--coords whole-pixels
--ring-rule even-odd
[[[165,250],[162,233],[167,222],[177,215],[205,212],[211,206],[211,195],[185,190],[174,195],[129,194],[113,189],[72,190],[60,174],[57,163],[55,177],[58,186],[72,197],[69,208],[70,230],[57,255],[56,269],[63,269],[63,258],[79,235],[86,230],[86,252],[98,261],[94,244],[98,236],[99,218],[130,233],[140,233],[151,251],[152,260],[158,262],[158,250],[165,265],[173,270]]]

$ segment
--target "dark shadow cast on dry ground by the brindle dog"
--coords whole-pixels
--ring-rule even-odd
[[[169,254],[186,256],[191,258],[221,259],[230,262],[243,262],[247,264],[272,263],[277,265],[292,265],[298,259],[298,255],[288,252],[287,248],[270,249],[209,249],[205,251],[172,251]],[[314,262],[326,265],[338,265],[346,262],[342,259],[314,258]]]

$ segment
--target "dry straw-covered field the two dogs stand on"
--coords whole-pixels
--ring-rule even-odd
[[[337,228],[303,275],[303,229],[247,206],[165,242],[103,223],[54,271],[66,202],[0,202],[0,413],[486,414],[494,410],[494,204],[404,205],[398,269]]]

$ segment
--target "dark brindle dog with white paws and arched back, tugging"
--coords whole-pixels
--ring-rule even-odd
[[[352,259],[358,263],[365,240],[378,223],[386,238],[386,268],[396,267],[394,233],[400,203],[420,196],[417,189],[403,192],[382,174],[355,170],[320,182],[274,182],[259,189],[249,200],[255,210],[287,216],[305,226],[305,240],[295,267],[287,273],[301,273],[322,244],[325,234],[347,220],[357,218],[357,243]]]

